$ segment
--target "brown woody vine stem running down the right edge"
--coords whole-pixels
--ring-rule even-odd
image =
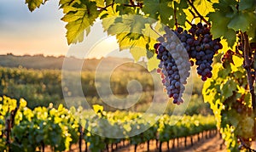
[[[247,82],[249,85],[249,89],[250,89],[250,93],[252,96],[252,103],[253,103],[253,113],[254,116],[256,116],[256,96],[254,93],[254,80],[253,80],[253,76],[251,73],[251,65],[252,65],[252,61],[249,59],[249,53],[251,52],[251,47],[249,45],[249,40],[248,40],[248,35],[247,32],[241,32],[241,41],[242,41],[242,47],[243,47],[243,56],[244,56],[244,68],[245,70],[247,70]],[[256,136],[256,121],[254,122],[254,135]]]

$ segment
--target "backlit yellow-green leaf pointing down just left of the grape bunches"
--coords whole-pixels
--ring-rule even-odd
[[[125,14],[104,19],[102,25],[105,31],[108,31],[108,35],[116,35],[119,49],[130,49],[132,56],[137,61],[142,56],[147,56],[146,45],[150,42],[150,36],[145,36],[145,25],[151,22],[152,20],[143,16]]]

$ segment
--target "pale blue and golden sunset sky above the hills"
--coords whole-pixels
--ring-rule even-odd
[[[84,42],[68,46],[65,37],[66,23],[61,21],[62,16],[58,1],[55,0],[48,1],[32,13],[28,10],[25,0],[1,0],[0,54],[68,54],[101,58],[118,49],[116,39],[103,32],[99,21],[96,21]],[[84,50],[87,53],[84,53]],[[129,56],[128,53],[122,54]]]

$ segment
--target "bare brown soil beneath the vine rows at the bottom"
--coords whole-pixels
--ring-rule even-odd
[[[201,134],[200,134],[201,138]],[[193,146],[190,145],[190,138],[187,138],[187,146],[184,146],[184,138],[179,138],[179,145],[177,147],[177,140],[175,140],[175,148],[172,148],[172,142],[169,142],[169,150],[167,149],[167,143],[162,144],[162,151],[170,151],[170,152],[226,152],[227,149],[224,146],[224,140],[220,138],[219,134],[212,135],[211,138],[201,138],[200,141],[197,141],[197,136],[193,137]],[[113,146],[115,148],[115,146]],[[150,141],[149,143],[149,150],[150,152],[158,152],[159,144],[156,146],[156,142]],[[253,149],[256,149],[256,142],[253,142],[252,145]],[[85,146],[83,144],[82,147],[83,151]],[[45,152],[50,152],[50,149],[45,149]],[[111,150],[109,150],[111,151]],[[119,144],[119,149],[114,149],[113,151],[116,152],[134,152],[134,145],[129,145],[128,142],[125,142],[125,146],[121,147]],[[146,152],[147,151],[147,144],[140,144],[137,146],[137,152]],[[70,152],[79,152],[79,146],[73,145],[72,150]],[[89,150],[90,152],[90,150]]]

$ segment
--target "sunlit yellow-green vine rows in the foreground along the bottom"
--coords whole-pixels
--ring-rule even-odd
[[[79,145],[82,151],[84,143],[85,151],[113,150],[125,144],[135,145],[136,151],[137,145],[143,143],[148,143],[150,149],[152,140],[157,141],[161,151],[162,144],[171,140],[174,144],[174,141],[178,143],[178,138],[185,138],[185,145],[189,145],[193,144],[193,135],[216,133],[212,115],[160,115],[154,123],[154,114],[147,115],[146,121],[142,113],[105,112],[99,105],[94,105],[95,112],[81,107],[67,110],[62,104],[57,109],[49,104],[31,110],[24,99],[3,96],[0,100],[1,151],[44,151],[46,147],[64,151],[73,144]],[[101,121],[102,118],[107,121]],[[139,132],[141,128],[147,129]],[[100,136],[101,133],[106,136]]]

